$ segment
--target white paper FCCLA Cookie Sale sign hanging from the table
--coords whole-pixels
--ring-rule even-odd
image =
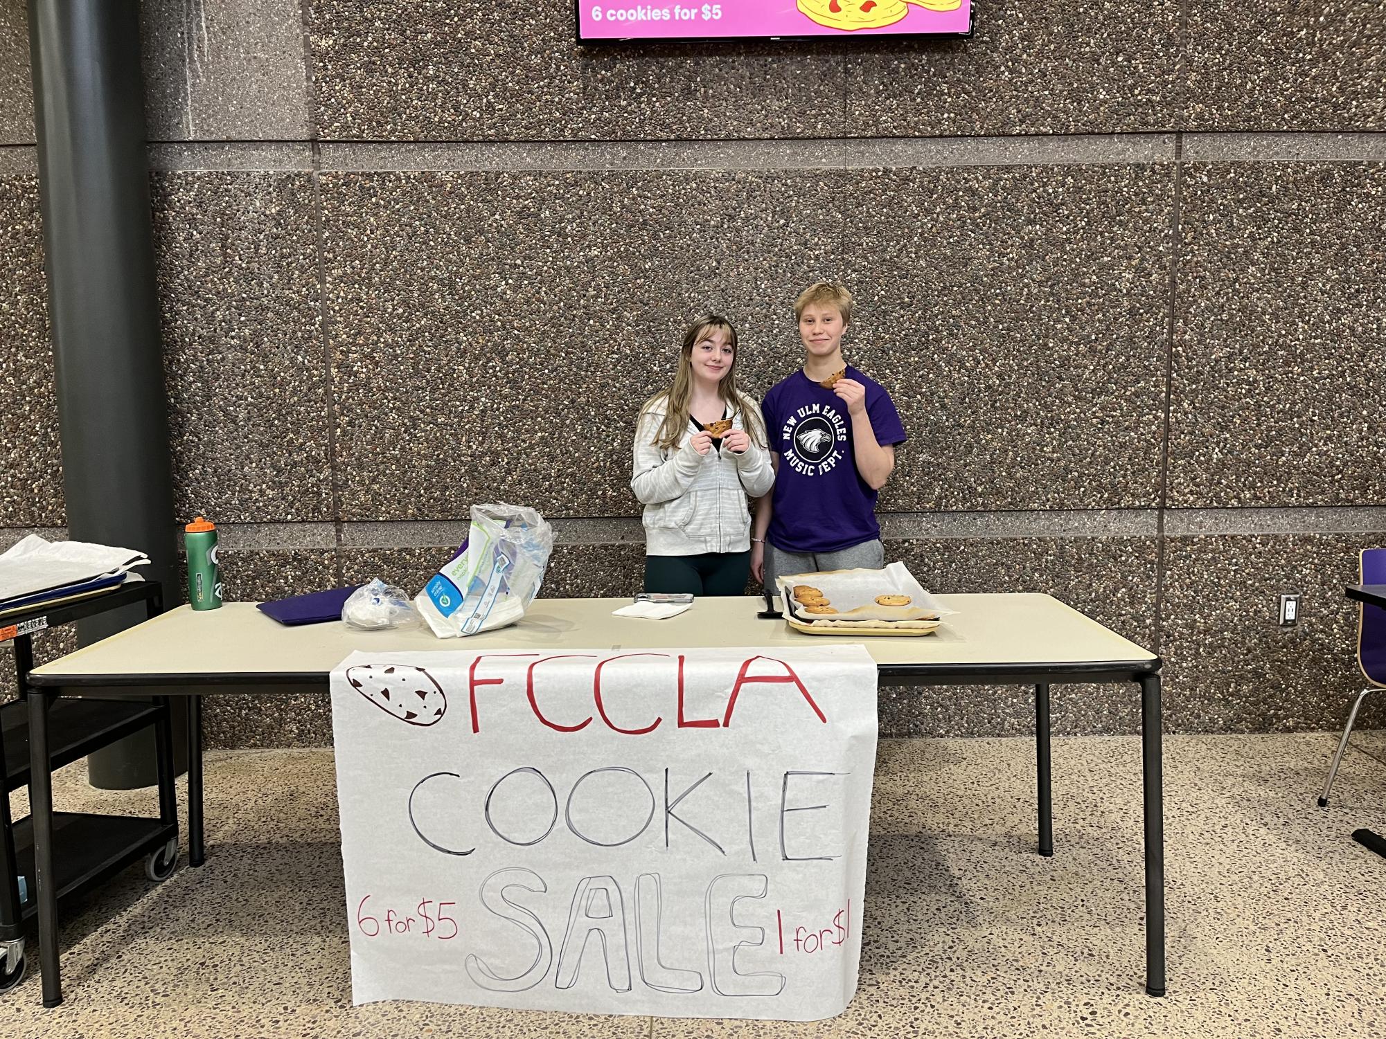
[[[356,652],[331,693],[356,1003],[811,1021],[851,1002],[861,646]]]

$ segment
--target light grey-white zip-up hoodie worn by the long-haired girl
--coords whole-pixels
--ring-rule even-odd
[[[740,396],[732,428],[760,406]],[[775,483],[771,453],[751,439],[740,454],[712,447],[699,454],[690,441],[697,428],[689,421],[675,447],[654,445],[668,406],[660,398],[635,423],[635,465],[631,490],[644,506],[647,556],[701,556],[707,551],[746,551],[751,547],[751,514],[746,496],[760,497]],[[764,420],[760,428],[765,428]]]

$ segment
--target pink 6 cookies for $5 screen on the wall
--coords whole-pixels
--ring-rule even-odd
[[[578,37],[965,33],[972,0],[578,0]]]

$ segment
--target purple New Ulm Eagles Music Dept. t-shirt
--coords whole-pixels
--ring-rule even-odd
[[[904,443],[905,427],[884,387],[848,366],[847,378],[866,387],[866,414],[876,443]],[[775,474],[775,511],[766,540],[782,551],[840,551],[880,538],[876,492],[857,471],[847,405],[796,371],[761,406]]]

